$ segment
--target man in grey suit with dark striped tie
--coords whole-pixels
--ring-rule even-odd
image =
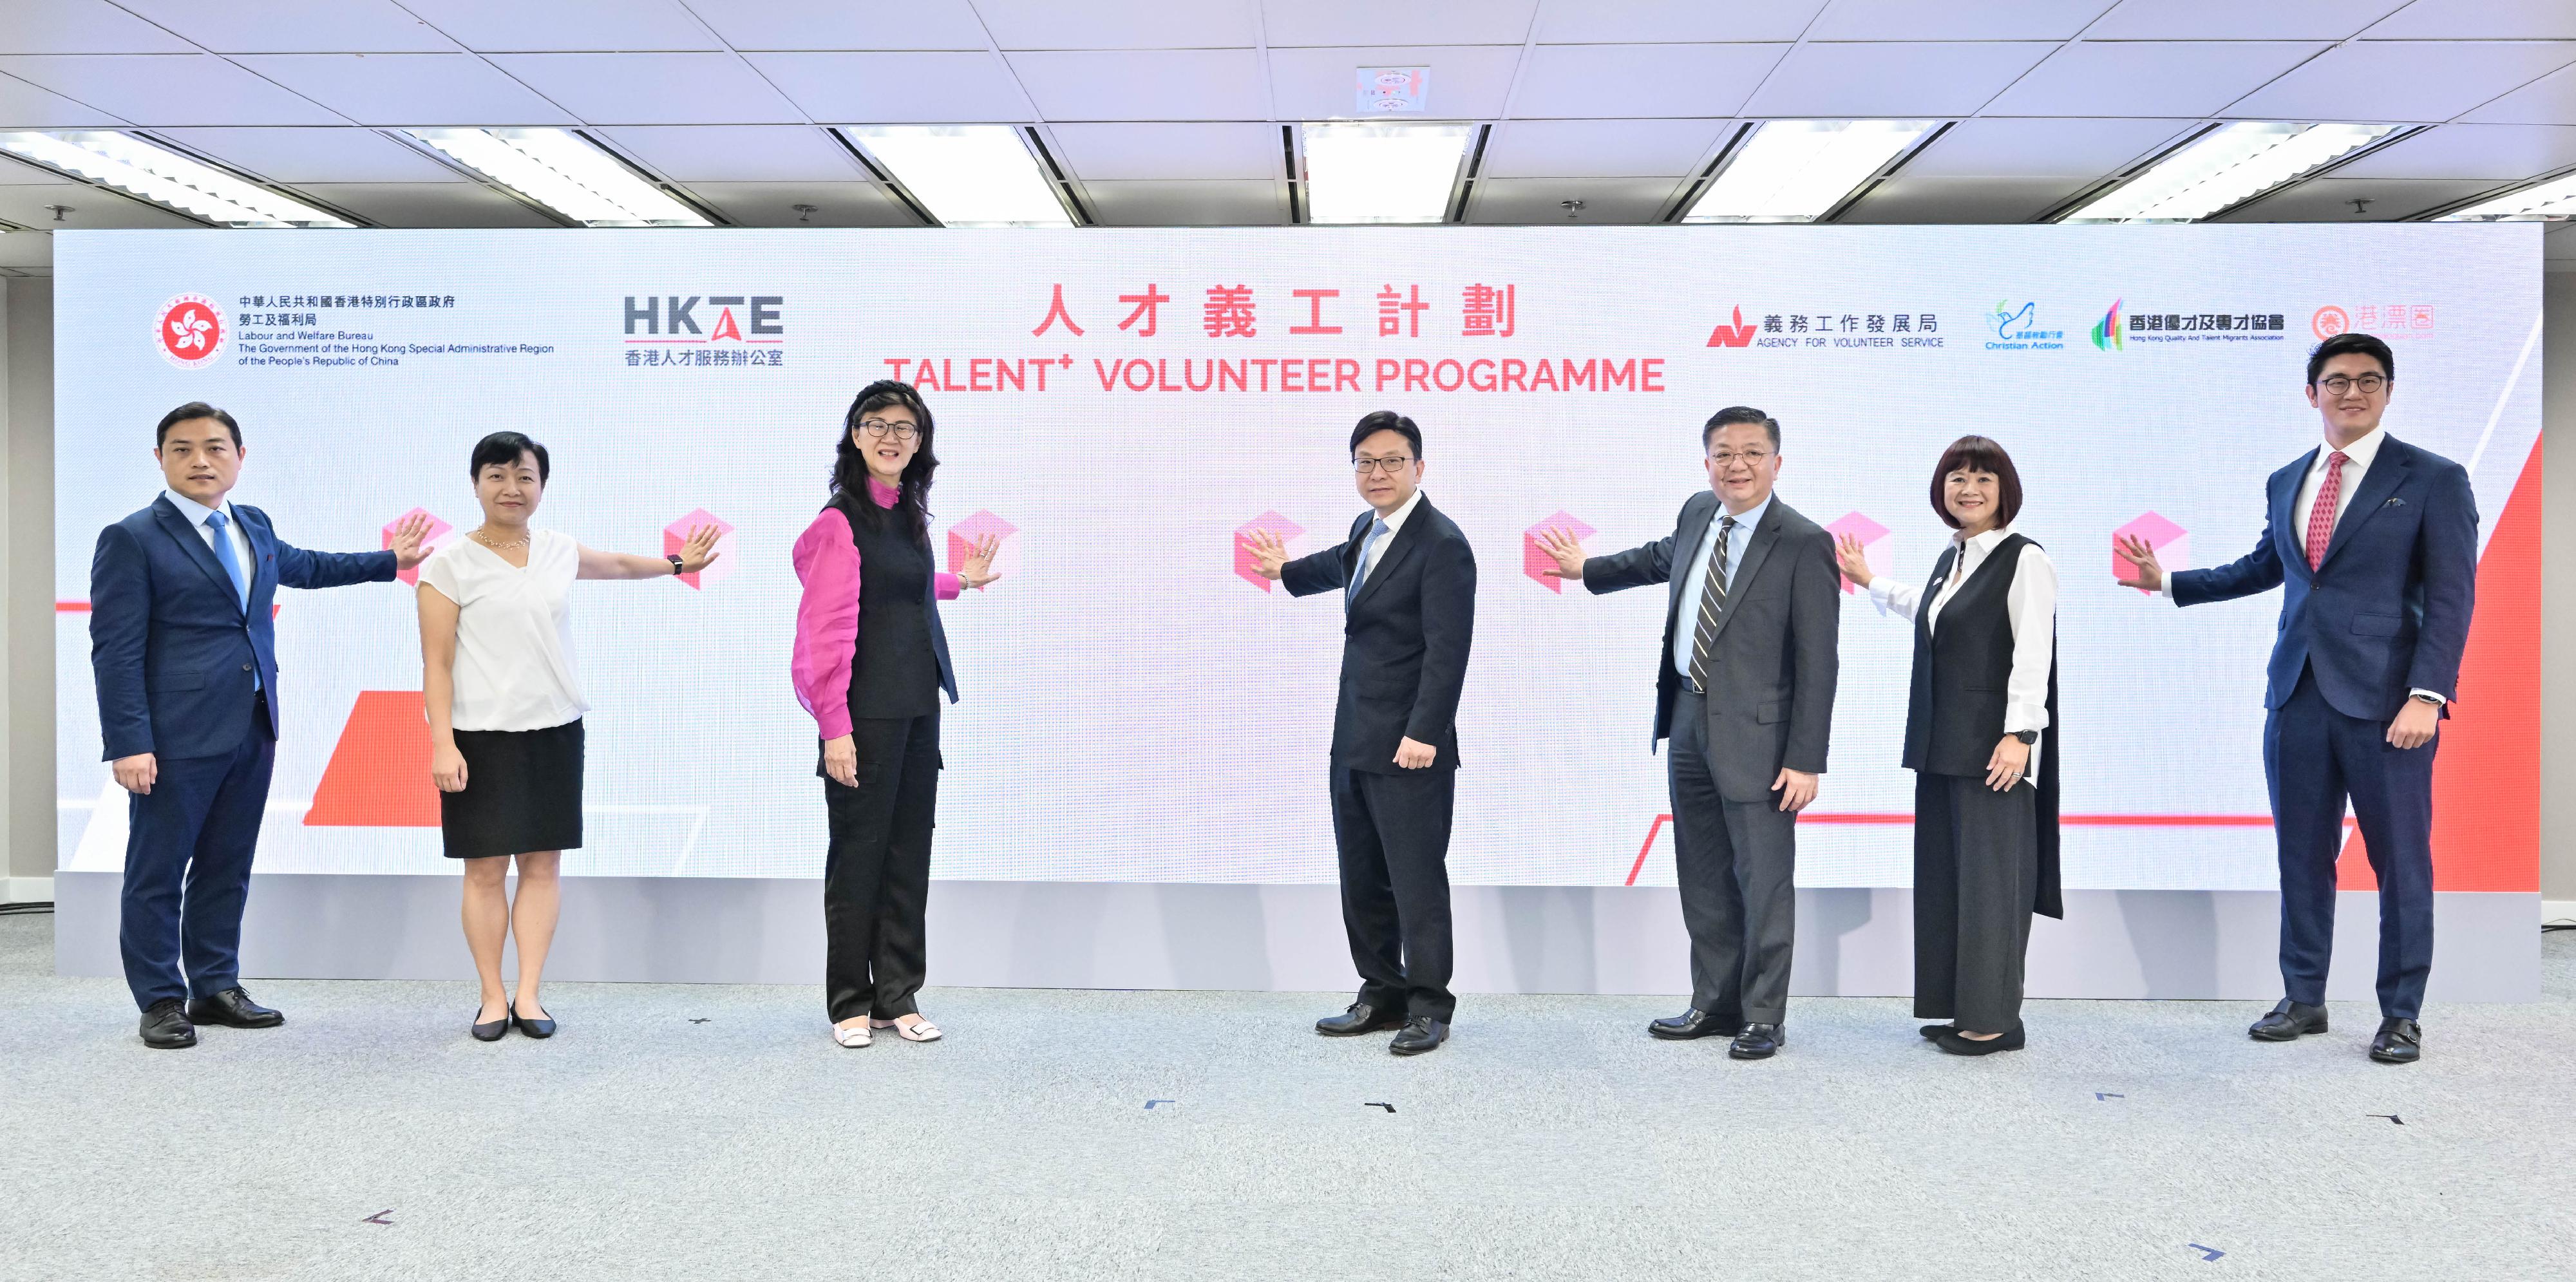
[[[1672,736],[1672,850],[1690,929],[1690,1009],[1646,1032],[1723,1035],[1739,1061],[1788,1040],[1798,811],[1834,729],[1842,618],[1834,535],[1772,497],[1780,420],[1728,407],[1700,427],[1708,494],[1672,535],[1584,556],[1540,535],[1556,577],[1592,592],[1672,584],[1656,649],[1654,736]]]

